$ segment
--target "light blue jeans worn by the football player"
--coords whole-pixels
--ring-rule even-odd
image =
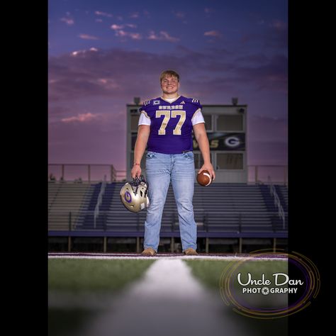
[[[179,213],[182,250],[189,247],[196,250],[197,226],[192,203],[195,181],[194,153],[162,154],[149,151],[146,156],[146,177],[150,206],[147,208],[145,220],[144,248],[152,247],[157,252],[162,212],[172,181]]]

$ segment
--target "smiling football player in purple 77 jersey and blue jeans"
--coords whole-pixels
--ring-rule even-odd
[[[215,172],[210,160],[210,148],[201,103],[198,99],[179,95],[179,74],[165,70],[160,75],[162,96],[145,101],[140,108],[138,137],[135,142],[133,178],[140,177],[140,162],[146,155],[146,177],[150,206],[145,220],[145,240],[142,254],[155,255],[159,245],[162,212],[170,182],[179,214],[182,252],[196,255],[197,227],[194,220],[195,164],[192,131],[203,156],[198,172]]]

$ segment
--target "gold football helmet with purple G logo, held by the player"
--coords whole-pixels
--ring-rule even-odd
[[[147,194],[148,184],[143,175],[141,175],[140,178],[135,177],[133,181],[126,182],[121,188],[121,202],[129,211],[138,213],[150,206]]]

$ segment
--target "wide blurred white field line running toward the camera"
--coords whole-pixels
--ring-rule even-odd
[[[254,335],[223,309],[183,260],[158,259],[78,335]]]

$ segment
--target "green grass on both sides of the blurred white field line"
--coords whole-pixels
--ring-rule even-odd
[[[81,327],[99,318],[106,308],[95,306],[94,302],[113,301],[130,284],[140,281],[145,271],[157,259],[49,259],[48,285],[50,293],[49,306],[49,336],[77,336],[81,335]],[[198,279],[206,289],[220,298],[220,276],[232,262],[210,259],[183,259],[191,268],[192,275]],[[287,272],[284,261],[250,261],[240,264],[237,271],[250,272],[254,279],[260,279],[262,273],[267,278],[274,272]],[[237,273],[235,272],[235,274]],[[174,269],[172,269],[174,272]],[[234,274],[234,276],[235,276]],[[150,284],[149,284],[150,288]],[[172,289],[174,290],[174,289]],[[123,292],[125,293],[125,291]],[[86,296],[89,294],[89,296]],[[254,296],[254,300],[257,296]],[[55,304],[55,298],[61,298]],[[87,305],[92,299],[92,305]],[[259,296],[262,298],[262,296]],[[62,306],[62,300],[65,305]],[[86,304],[81,306],[81,302]],[[60,304],[61,302],[61,304]],[[75,303],[74,305],[72,303]],[[162,302],[164,305],[164,302]],[[200,307],[200,313],[202,313]],[[151,312],[155,318],[155,311]],[[237,325],[244,325],[250,330],[250,335],[286,336],[287,319],[257,320],[246,318],[228,308],[223,303],[223,315],[235,321]],[[131,318],[131,317],[130,317]],[[195,317],[197,318],[197,317]],[[174,335],[174,334],[173,334]],[[99,335],[96,335],[99,336]],[[179,335],[174,335],[179,336]],[[241,336],[241,335],[240,335]],[[245,335],[244,335],[245,336]]]

